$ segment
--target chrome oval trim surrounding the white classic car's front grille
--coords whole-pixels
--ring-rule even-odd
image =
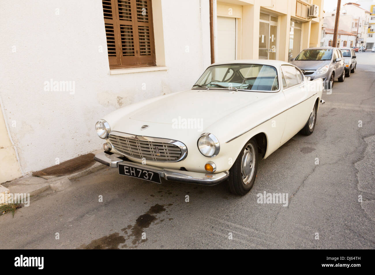
[[[186,145],[183,144],[181,141],[178,141],[178,140],[171,140],[169,138],[146,137],[146,136],[143,136],[143,135],[132,135],[132,134],[117,132],[117,131],[111,131],[110,134],[108,135],[108,137],[110,137],[110,135],[115,135],[115,136],[124,137],[124,138],[131,138],[131,139],[134,139],[134,140],[151,141],[151,142],[155,142],[155,143],[169,143],[169,144],[173,144],[173,145],[177,146],[181,150],[181,155],[178,159],[166,160],[166,161],[153,161],[153,160],[150,160],[150,159],[146,159],[147,162],[178,162],[178,161],[182,161],[187,156]],[[113,144],[112,144],[112,147],[113,147],[114,150],[116,150],[116,152],[120,153],[121,155],[126,156],[127,158],[138,159],[140,161],[142,160],[142,158],[135,158],[135,156],[132,156],[132,155],[126,153],[126,152],[122,152],[122,151],[117,150],[117,147],[113,146]]]

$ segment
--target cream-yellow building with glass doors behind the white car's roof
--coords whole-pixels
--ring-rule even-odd
[[[320,46],[323,1],[213,0],[214,61],[288,61]]]

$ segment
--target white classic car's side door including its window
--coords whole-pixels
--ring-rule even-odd
[[[302,71],[293,65],[281,65],[283,92],[287,102],[287,123],[282,135],[281,144],[284,144],[306,124],[311,113],[307,106],[307,85],[309,80],[305,79]],[[284,85],[285,84],[285,85]]]

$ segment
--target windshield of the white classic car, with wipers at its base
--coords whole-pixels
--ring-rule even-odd
[[[262,64],[223,64],[208,67],[194,87],[277,91],[275,67]]]

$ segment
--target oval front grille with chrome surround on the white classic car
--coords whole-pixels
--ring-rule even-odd
[[[167,138],[154,138],[110,132],[113,148],[123,155],[151,162],[177,162],[187,155],[185,144]]]

